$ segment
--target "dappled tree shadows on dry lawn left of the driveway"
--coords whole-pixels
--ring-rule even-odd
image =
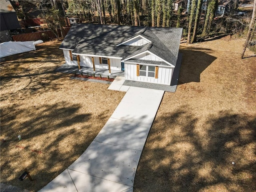
[[[80,104],[1,109],[1,182],[37,191],[65,170],[89,146],[102,127],[92,130],[92,114],[79,113]],[[105,121],[103,113],[98,121]],[[22,140],[18,140],[18,135]],[[18,177],[25,168],[34,181]]]

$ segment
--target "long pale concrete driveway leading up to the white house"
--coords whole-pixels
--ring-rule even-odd
[[[164,91],[129,87],[86,151],[40,192],[132,192]]]

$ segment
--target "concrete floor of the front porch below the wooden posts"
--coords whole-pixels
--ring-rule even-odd
[[[62,72],[62,73],[71,73],[71,74],[85,74],[85,75],[93,75],[96,76],[102,76],[102,77],[110,77],[115,78],[116,76],[123,76],[124,77],[124,71],[118,71],[118,70],[111,70],[111,74],[109,74],[108,69],[102,69],[102,68],[95,68],[95,71],[92,67],[82,67],[80,70],[78,69],[78,66],[75,65],[68,65],[63,64],[62,66],[58,67],[55,71]]]

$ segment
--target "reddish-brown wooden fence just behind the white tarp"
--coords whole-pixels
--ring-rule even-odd
[[[70,27],[65,27],[62,29],[63,36],[65,37]],[[54,34],[51,30],[39,31],[34,33],[25,33],[12,36],[13,41],[36,41],[36,40],[52,40],[61,37],[60,29],[58,29],[58,36]]]

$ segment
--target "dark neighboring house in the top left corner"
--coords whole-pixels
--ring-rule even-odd
[[[0,1],[1,42],[11,41],[10,30],[20,28],[20,23],[10,1]]]

